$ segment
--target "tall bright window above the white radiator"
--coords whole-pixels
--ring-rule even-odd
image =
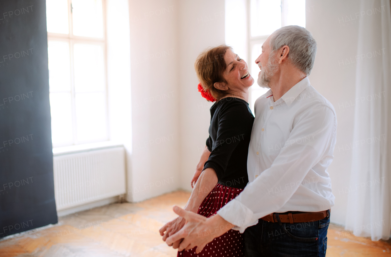
[[[53,147],[108,140],[104,2],[46,7]]]

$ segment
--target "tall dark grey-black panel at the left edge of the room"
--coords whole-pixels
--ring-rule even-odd
[[[45,0],[0,1],[0,238],[57,223]]]

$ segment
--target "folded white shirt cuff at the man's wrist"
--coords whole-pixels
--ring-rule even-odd
[[[234,225],[232,229],[239,230],[240,233],[243,233],[246,228],[258,223],[258,219],[254,220],[253,218],[253,211],[236,199],[228,202],[224,207],[217,211],[217,214],[224,220],[232,223]]]

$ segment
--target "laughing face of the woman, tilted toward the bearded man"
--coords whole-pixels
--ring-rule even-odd
[[[240,57],[228,49],[224,55],[224,60],[227,65],[223,73],[223,78],[230,90],[236,91],[240,89],[247,89],[254,83],[251,77],[247,63],[240,59]]]

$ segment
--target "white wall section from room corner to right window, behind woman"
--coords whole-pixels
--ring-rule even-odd
[[[190,181],[208,138],[209,103],[197,90],[194,62],[209,46],[224,44],[224,0],[179,1],[179,99],[181,188]]]

